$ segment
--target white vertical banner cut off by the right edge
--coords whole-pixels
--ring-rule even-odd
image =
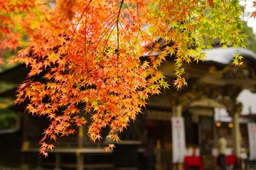
[[[256,123],[247,124],[249,137],[249,160],[256,159]]]

